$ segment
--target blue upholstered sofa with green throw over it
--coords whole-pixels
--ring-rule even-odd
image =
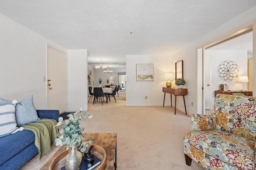
[[[58,110],[36,110],[38,117],[55,119]],[[18,131],[0,138],[0,170],[18,170],[36,154],[35,134],[30,130]]]

